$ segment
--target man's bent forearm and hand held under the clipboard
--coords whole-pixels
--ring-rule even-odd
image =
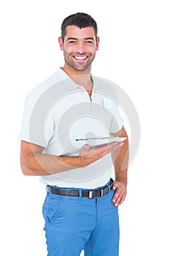
[[[85,145],[77,157],[59,157],[43,154],[44,148],[42,146],[21,140],[20,165],[25,175],[46,176],[88,166],[121,145],[122,143],[110,143],[108,146],[92,150],[88,145]]]

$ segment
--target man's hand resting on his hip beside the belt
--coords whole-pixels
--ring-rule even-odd
[[[114,206],[120,206],[120,204],[125,200],[125,196],[127,195],[125,184],[119,181],[115,181],[112,189],[115,190],[112,203],[114,203]]]

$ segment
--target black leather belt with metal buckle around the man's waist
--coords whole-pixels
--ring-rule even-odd
[[[47,192],[50,192],[55,195],[68,195],[72,197],[88,197],[88,198],[97,198],[106,195],[110,189],[112,189],[114,181],[112,178],[110,179],[110,183],[101,187],[101,189],[91,189],[91,190],[83,190],[83,189],[58,189],[55,187],[47,186]]]

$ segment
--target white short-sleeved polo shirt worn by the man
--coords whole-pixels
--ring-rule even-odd
[[[77,156],[77,138],[107,137],[123,127],[114,83],[93,77],[91,99],[61,68],[28,94],[20,140],[45,147],[44,154]],[[74,168],[40,181],[58,187],[94,189],[107,184],[113,173],[111,154],[87,167]]]

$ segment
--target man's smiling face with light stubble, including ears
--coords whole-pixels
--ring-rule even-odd
[[[80,29],[77,26],[67,26],[64,42],[61,37],[58,40],[66,65],[77,71],[90,69],[99,42],[93,27]]]

